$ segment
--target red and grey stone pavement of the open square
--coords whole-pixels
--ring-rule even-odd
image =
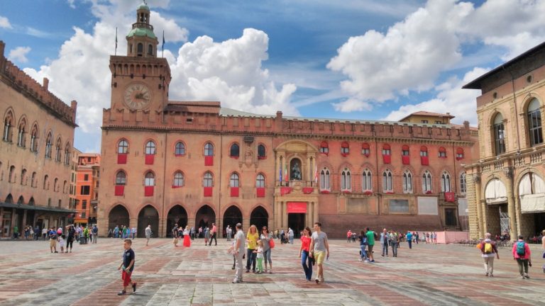
[[[358,244],[331,241],[326,283],[304,280],[299,244],[278,244],[273,273],[245,273],[233,284],[229,242],[174,248],[170,239],[136,239],[136,294],[117,296],[119,239],[50,254],[48,242],[0,242],[0,305],[545,305],[541,246],[532,246],[529,280],[518,276],[510,249],[500,249],[486,278],[469,246],[402,244],[399,257],[358,261]]]

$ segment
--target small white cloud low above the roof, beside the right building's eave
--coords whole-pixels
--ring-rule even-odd
[[[435,98],[418,104],[401,106],[382,120],[398,121],[417,111],[430,111],[433,113],[446,113],[448,111],[451,115],[456,116],[456,118],[453,119],[454,123],[463,123],[463,121],[467,120],[471,125],[477,126],[477,113],[475,113],[475,108],[477,107],[476,100],[477,97],[480,96],[480,91],[462,89],[462,86],[485,74],[488,70],[489,69],[477,67],[470,72],[467,72],[463,79],[457,79],[456,77],[450,79],[443,84],[436,86],[435,89],[439,91],[439,93]]]

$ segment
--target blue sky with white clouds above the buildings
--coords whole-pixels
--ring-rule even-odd
[[[126,55],[142,3],[0,1],[5,56],[78,102],[75,147],[83,152],[100,150],[109,56]],[[165,33],[170,100],[267,115],[395,121],[431,111],[477,126],[480,91],[461,87],[545,38],[539,0],[147,3],[155,35]]]

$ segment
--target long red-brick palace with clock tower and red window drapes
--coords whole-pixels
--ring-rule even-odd
[[[243,222],[333,237],[364,226],[461,229],[462,164],[478,156],[468,123],[381,122],[256,115],[219,102],[170,101],[148,6],[111,56],[104,109],[99,230]],[[450,120],[448,114],[426,118]],[[445,119],[446,118],[446,119]]]

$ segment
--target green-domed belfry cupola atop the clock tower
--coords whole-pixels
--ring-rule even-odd
[[[136,23],[127,34],[128,57],[157,57],[159,41],[150,24],[150,8],[141,4],[136,8]]]

